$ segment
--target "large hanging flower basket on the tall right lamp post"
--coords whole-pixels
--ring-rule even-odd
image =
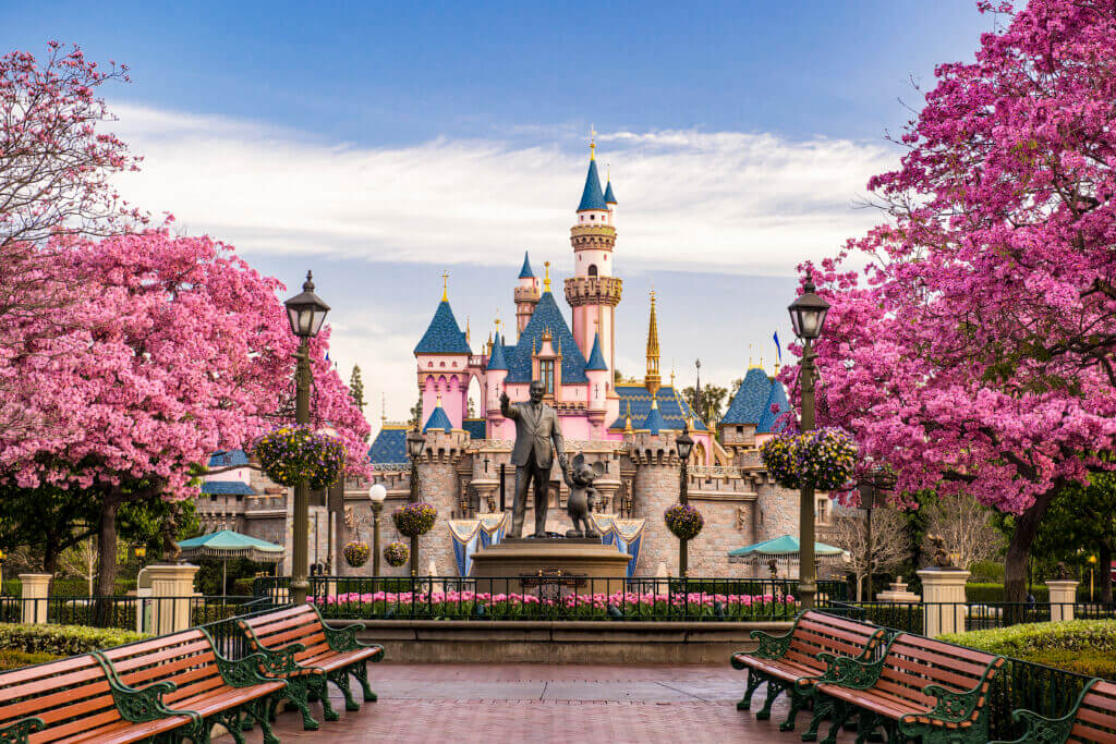
[[[777,435],[760,446],[760,456],[771,477],[785,489],[806,485],[837,491],[853,479],[856,443],[848,432],[830,426]]]

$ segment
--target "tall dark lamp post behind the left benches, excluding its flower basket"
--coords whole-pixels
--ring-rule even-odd
[[[295,367],[295,423],[305,425],[310,423],[310,339],[318,335],[323,323],[326,322],[329,306],[314,293],[314,274],[309,271],[306,272],[302,291],[283,305],[287,306],[290,330],[299,338],[298,351],[295,352],[295,358],[298,360]],[[310,526],[309,504],[309,486],[302,479],[295,484],[295,544],[291,557],[290,593],[296,605],[306,602],[306,595],[310,588],[307,580],[310,568],[307,544],[307,531]]]

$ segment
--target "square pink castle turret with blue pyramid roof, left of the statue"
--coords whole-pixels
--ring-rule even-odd
[[[442,274],[442,301],[415,346],[422,421],[430,418],[440,400],[453,428],[461,428],[469,409],[469,341],[450,308],[449,274]],[[439,400],[439,403],[435,403]]]

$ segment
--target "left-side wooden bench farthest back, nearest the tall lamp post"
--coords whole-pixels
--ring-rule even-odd
[[[334,683],[345,696],[346,711],[359,711],[360,704],[353,699],[348,676],[360,684],[364,699],[376,699],[368,687],[368,661],[381,661],[384,647],[362,644],[356,634],[364,626],[356,624],[347,628],[331,628],[321,619],[312,605],[288,607],[272,612],[237,620],[253,651],[271,655],[280,651],[291,654],[289,665],[276,664],[264,670],[269,676],[288,682],[287,694],[302,713],[302,726],[318,727],[310,716],[309,700],[321,700],[326,721],[337,721],[337,713],[329,705],[326,682]]]

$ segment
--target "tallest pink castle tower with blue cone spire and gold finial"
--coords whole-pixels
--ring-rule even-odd
[[[616,228],[613,210],[600,191],[595,143],[589,145],[589,172],[585,177],[577,222],[569,230],[574,248],[574,276],[566,280],[566,301],[574,308],[574,340],[588,358],[596,332],[600,349],[612,373],[616,368],[616,306],[620,301],[623,281],[613,276],[613,248]],[[609,190],[615,204],[616,196]],[[608,397],[615,397],[609,375]]]

